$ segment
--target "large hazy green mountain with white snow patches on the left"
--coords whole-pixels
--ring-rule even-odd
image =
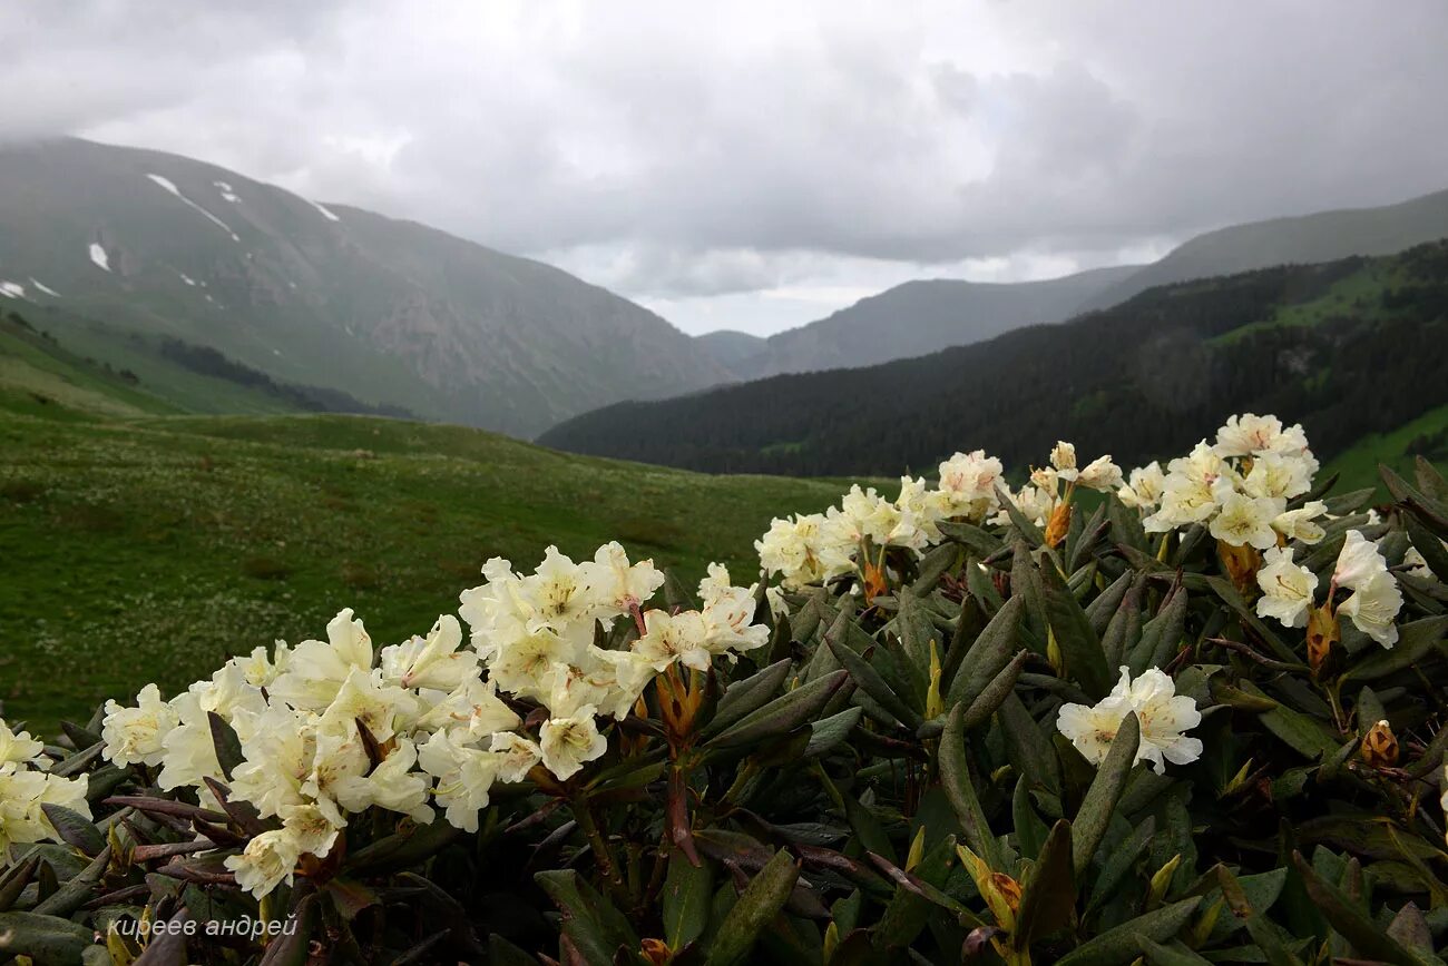
[[[515,435],[728,379],[660,317],[549,265],[78,139],[0,146],[0,295],[58,309],[54,334],[101,359],[171,338]]]

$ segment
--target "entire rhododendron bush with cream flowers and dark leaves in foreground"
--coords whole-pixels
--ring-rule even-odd
[[[0,723],[0,959],[1442,962],[1448,483],[1250,414],[1089,456]]]

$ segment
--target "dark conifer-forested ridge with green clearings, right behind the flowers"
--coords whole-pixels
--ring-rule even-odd
[[[615,403],[540,443],[807,476],[931,473],[977,447],[1022,467],[1057,438],[1137,464],[1254,411],[1303,422],[1331,457],[1448,406],[1445,370],[1448,241],[1438,241],[1158,286],[1072,322],[882,366]],[[1445,428],[1415,445],[1448,457],[1448,418],[1435,425]]]

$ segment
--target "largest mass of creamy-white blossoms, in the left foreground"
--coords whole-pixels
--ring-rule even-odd
[[[536,766],[566,781],[607,751],[599,720],[627,716],[656,674],[675,662],[707,670],[769,635],[753,623],[756,587],[731,586],[717,564],[699,584],[702,607],[685,612],[643,609],[665,577],[652,561],[631,564],[618,544],[578,564],[550,547],[527,576],[494,558],[484,576],[460,597],[466,644],[443,615],[427,636],[374,652],[343,610],[326,641],[258,648],[169,701],[153,684],[135,706],[109,701],[103,753],[159,766],[162,790],[214,801],[214,719],[224,722],[242,749],[229,794],[272,826],[226,868],[261,897],[291,882],[304,856],[326,858],[349,816],[369,808],[417,823],[437,808],[476,832],[494,782],[523,781]],[[614,638],[620,646],[601,646]],[[533,706],[526,726],[514,709]]]

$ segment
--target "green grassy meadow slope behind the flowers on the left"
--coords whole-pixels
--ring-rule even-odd
[[[711,477],[358,416],[43,419],[0,412],[0,700],[51,730],[356,607],[426,633],[488,557],[620,538],[688,580],[747,581],[769,519],[827,480]]]

